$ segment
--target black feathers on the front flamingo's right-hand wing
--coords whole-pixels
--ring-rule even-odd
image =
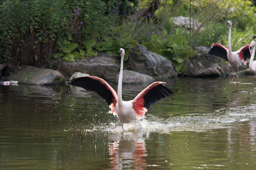
[[[159,84],[152,89],[150,89],[147,94],[143,97],[144,99],[144,107],[149,109],[150,106],[154,105],[155,102],[164,99],[165,97],[174,94],[168,87],[163,84]]]

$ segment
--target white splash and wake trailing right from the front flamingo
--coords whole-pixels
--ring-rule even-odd
[[[188,114],[170,116],[167,118],[148,114],[145,119],[135,123],[125,123],[124,131],[118,120],[94,124],[92,128],[83,127],[82,133],[87,132],[158,132],[171,133],[173,131],[206,131],[218,128],[228,128],[237,125],[235,122],[243,122],[256,119],[256,105],[248,107],[234,107],[230,109],[216,110],[212,114]]]

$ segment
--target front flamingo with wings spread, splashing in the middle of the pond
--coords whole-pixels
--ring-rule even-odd
[[[122,71],[124,66],[125,50],[120,49],[121,67],[119,73],[119,81],[116,91],[103,79],[95,76],[84,76],[71,80],[70,84],[73,86],[82,87],[88,91],[97,92],[99,96],[106,100],[110,106],[112,114],[117,114],[119,121],[124,130],[124,123],[135,122],[145,116],[145,112],[149,107],[165,97],[173,94],[164,82],[155,82],[147,86],[146,89],[140,92],[134,100],[122,101]]]

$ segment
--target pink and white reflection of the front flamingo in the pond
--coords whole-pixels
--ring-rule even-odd
[[[110,169],[144,169],[147,156],[142,131],[124,132],[110,136],[112,142],[109,144],[111,156]]]

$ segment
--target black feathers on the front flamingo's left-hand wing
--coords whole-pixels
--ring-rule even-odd
[[[99,80],[95,80],[85,76],[71,80],[70,84],[73,86],[82,87],[87,91],[96,92],[99,96],[106,100],[108,105],[111,105],[112,103],[112,92],[109,89],[107,89],[107,87],[104,84],[102,84]]]

